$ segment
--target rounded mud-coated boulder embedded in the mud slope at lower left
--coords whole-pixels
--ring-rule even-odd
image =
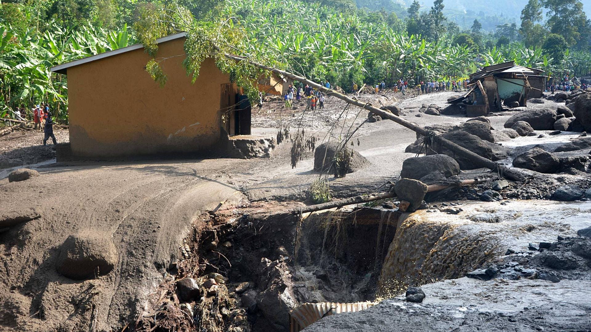
[[[56,269],[74,280],[106,275],[117,263],[112,236],[96,231],[70,235],[59,248]]]

